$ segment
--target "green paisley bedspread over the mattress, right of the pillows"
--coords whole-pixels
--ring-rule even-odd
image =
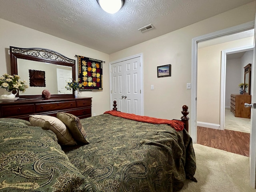
[[[92,191],[174,192],[196,171],[192,139],[164,124],[102,114],[81,120],[90,144],[66,152]]]

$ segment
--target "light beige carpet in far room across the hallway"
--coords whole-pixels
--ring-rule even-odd
[[[235,117],[230,109],[225,109],[225,126],[224,129],[242,131],[250,133],[250,119]]]

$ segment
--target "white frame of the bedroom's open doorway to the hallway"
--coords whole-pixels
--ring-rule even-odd
[[[231,35],[238,32],[254,29],[254,21],[247,22],[238,26],[230,27],[224,30],[206,34],[192,39],[192,79],[191,79],[191,116],[190,116],[190,136],[193,143],[197,142],[197,56],[198,43],[206,40],[218,38],[221,36]]]

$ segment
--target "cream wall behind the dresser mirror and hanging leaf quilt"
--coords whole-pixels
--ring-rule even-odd
[[[76,78],[78,76],[78,65],[75,55],[106,61],[103,64],[103,90],[80,92],[79,96],[92,97],[92,114],[99,115],[106,110],[110,110],[108,54],[0,19],[0,75],[11,73],[10,54],[8,54],[10,46],[46,48],[75,59]]]

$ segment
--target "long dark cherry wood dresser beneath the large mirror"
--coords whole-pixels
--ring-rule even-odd
[[[29,120],[29,115],[40,114],[55,116],[66,112],[79,118],[92,116],[92,98],[25,99],[0,102],[0,118]]]

